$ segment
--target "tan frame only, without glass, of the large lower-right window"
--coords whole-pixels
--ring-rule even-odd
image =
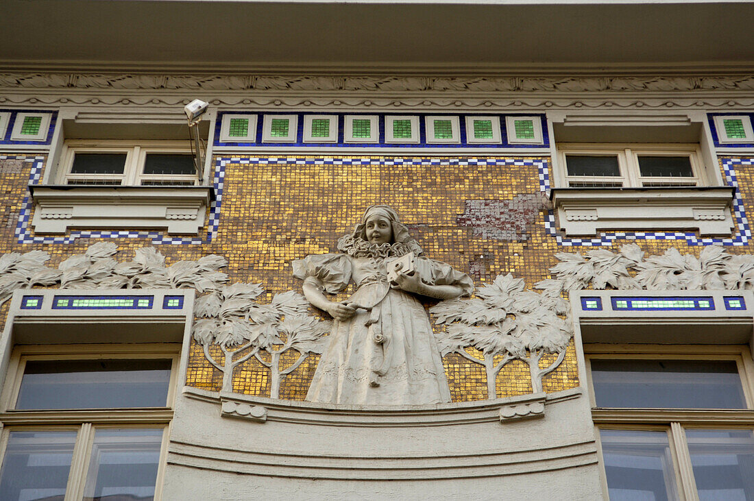
[[[754,359],[746,345],[584,344],[587,393],[599,455],[600,482],[608,499],[608,480],[600,430],[665,431],[681,499],[697,499],[697,487],[685,431],[748,429],[754,432]],[[733,360],[740,376],[745,409],[599,408],[596,407],[592,359]]]

